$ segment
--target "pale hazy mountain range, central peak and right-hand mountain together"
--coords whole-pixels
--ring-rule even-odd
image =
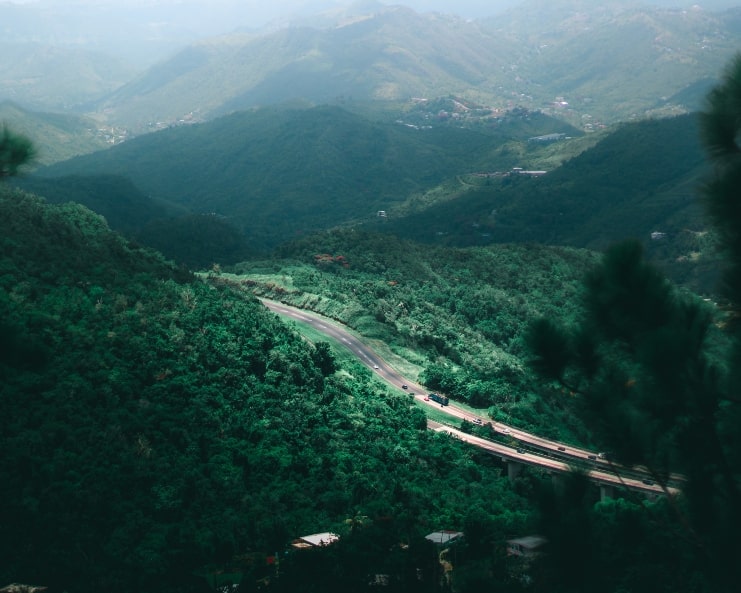
[[[545,109],[594,127],[696,108],[681,93],[717,77],[741,39],[738,10],[614,0],[560,0],[545,8],[525,2],[481,21],[375,3],[342,14],[331,24],[191,45],[96,109],[144,131],[281,102],[454,94],[495,107]]]

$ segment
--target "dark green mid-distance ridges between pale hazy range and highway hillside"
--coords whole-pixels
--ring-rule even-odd
[[[695,116],[623,124],[582,138],[568,127],[558,133],[555,125],[542,114],[517,110],[500,123],[469,130],[444,122],[428,129],[383,124],[330,106],[266,108],[58,163],[27,186],[36,184],[54,201],[96,207],[89,193],[75,198],[75,182],[67,179],[106,175],[87,186],[132,205],[141,202],[140,194],[155,200],[142,202],[147,208],[174,204],[190,217],[169,227],[150,225],[146,243],[201,265],[233,262],[224,256],[269,251],[335,227],[449,246],[602,249],[638,237],[667,262],[694,258],[705,230],[698,196],[707,166]],[[535,140],[549,134],[551,141]],[[559,166],[564,155],[571,158]],[[539,166],[545,175],[515,169]],[[59,183],[65,196],[54,194],[57,176],[65,176]],[[101,185],[112,176],[131,180],[130,197]],[[120,204],[108,211],[121,217]],[[138,218],[136,232],[149,224],[145,218]],[[661,241],[650,240],[654,231]],[[187,250],[182,237],[193,244]],[[187,254],[196,244],[201,254],[193,259]],[[674,276],[695,274],[690,267],[680,265]]]

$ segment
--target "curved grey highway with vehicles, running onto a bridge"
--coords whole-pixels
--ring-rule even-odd
[[[332,338],[339,344],[342,344],[363,364],[373,369],[374,372],[376,372],[387,383],[398,389],[402,389],[402,386],[406,385],[406,390],[410,394],[413,393],[415,399],[422,404],[439,407],[440,411],[461,420],[466,419],[475,422],[476,424],[491,425],[491,428],[495,433],[499,433],[504,438],[511,437],[513,442],[516,443],[516,447],[476,437],[447,426],[441,428],[442,425],[437,425],[430,421],[428,424],[433,429],[444,430],[451,436],[459,438],[481,449],[485,449],[490,453],[499,455],[503,459],[537,465],[550,471],[557,472],[568,472],[571,471],[571,468],[575,465],[586,465],[589,467],[587,473],[597,482],[627,487],[635,490],[643,490],[646,492],[676,492],[676,489],[674,488],[668,488],[665,490],[659,484],[653,483],[653,480],[645,470],[619,466],[609,460],[601,459],[598,457],[598,454],[593,451],[544,439],[532,433],[520,430],[519,428],[502,424],[501,422],[491,422],[489,418],[474,415],[471,412],[456,407],[455,405],[440,406],[439,404],[427,399],[427,391],[424,386],[409,381],[399,375],[399,373],[397,373],[372,348],[336,322],[330,321],[317,313],[298,309],[283,303],[263,298],[261,298],[260,301],[271,311],[274,311],[283,317],[306,323],[317,331]],[[525,450],[525,447],[527,447],[527,451]],[[680,476],[673,477],[677,481],[681,481]]]

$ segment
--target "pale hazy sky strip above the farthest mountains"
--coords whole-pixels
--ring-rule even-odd
[[[199,39],[295,23],[351,4],[404,5],[464,18],[493,16],[523,2],[562,0],[0,0],[0,38],[76,46],[148,65]],[[588,2],[589,0],[581,0]],[[600,0],[593,0],[599,2]],[[704,8],[741,0],[624,0]],[[12,5],[14,10],[9,10]],[[3,10],[5,7],[5,10]],[[20,11],[18,10],[20,9]],[[19,12],[26,14],[19,14]]]

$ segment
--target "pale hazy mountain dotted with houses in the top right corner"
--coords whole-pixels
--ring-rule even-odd
[[[699,107],[678,94],[718,77],[739,46],[740,16],[697,5],[530,1],[488,24],[527,47],[514,64],[521,93],[549,112],[611,122]]]

